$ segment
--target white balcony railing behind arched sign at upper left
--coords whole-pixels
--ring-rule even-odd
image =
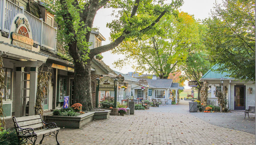
[[[19,13],[28,18],[34,43],[56,51],[57,28],[46,24],[42,18],[33,16],[9,0],[0,0],[0,30],[9,33],[13,18]]]

